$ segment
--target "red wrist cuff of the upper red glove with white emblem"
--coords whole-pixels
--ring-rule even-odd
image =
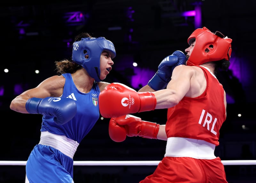
[[[140,110],[138,112],[153,111],[156,108],[156,96],[152,92],[139,92]]]

